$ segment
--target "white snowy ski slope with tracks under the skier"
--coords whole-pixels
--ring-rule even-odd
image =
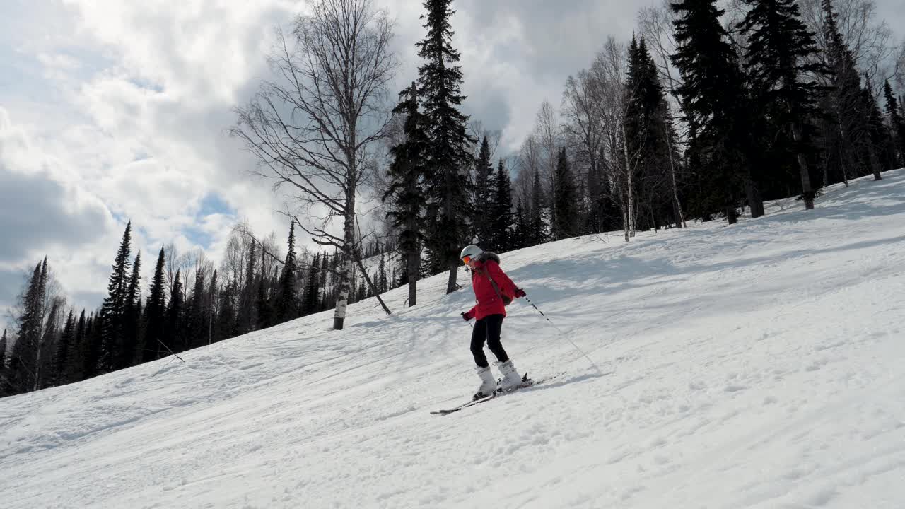
[[[504,344],[534,389],[477,387],[465,289],[373,300],[0,400],[0,506],[905,507],[905,170],[737,226],[506,255]],[[464,276],[460,281],[465,281]]]

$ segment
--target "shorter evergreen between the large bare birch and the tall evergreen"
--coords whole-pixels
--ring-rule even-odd
[[[399,251],[405,262],[405,283],[409,285],[408,305],[414,306],[417,303],[418,267],[424,240],[424,210],[427,208],[425,158],[430,139],[425,131],[427,119],[418,110],[416,83],[401,91],[399,97],[399,104],[393,112],[405,115],[405,141],[390,149],[393,157],[387,170],[390,185],[383,200],[392,202],[387,217],[399,232]]]

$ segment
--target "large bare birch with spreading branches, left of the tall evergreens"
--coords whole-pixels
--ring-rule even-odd
[[[231,131],[258,158],[253,173],[286,187],[299,213],[327,210],[319,224],[296,224],[319,245],[341,251],[333,328],[341,330],[355,263],[356,197],[386,137],[387,86],[396,68],[393,24],[373,0],[319,0],[271,53],[277,81],[262,83],[238,109]],[[342,233],[334,233],[340,218]]]

